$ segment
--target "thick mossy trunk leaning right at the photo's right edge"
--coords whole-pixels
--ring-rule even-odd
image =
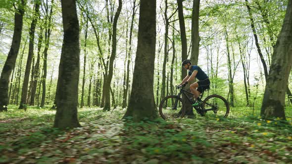
[[[292,0],[287,11],[274,48],[272,64],[267,78],[261,115],[268,119],[279,117],[285,119],[285,93],[292,65]]]

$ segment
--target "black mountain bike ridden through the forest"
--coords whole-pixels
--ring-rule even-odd
[[[159,104],[159,114],[164,120],[172,118],[183,118],[186,114],[186,105],[181,98],[184,94],[189,103],[194,104],[197,100],[194,99],[194,94],[183,89],[185,86],[177,86],[180,89],[178,95],[168,95],[163,98]],[[189,97],[191,94],[191,96]],[[202,100],[203,93],[201,93],[200,98]],[[187,102],[187,101],[186,101]],[[229,103],[228,101],[217,94],[212,94],[207,96],[201,105],[193,107],[196,113],[201,116],[207,117],[223,117],[226,118],[229,114]]]

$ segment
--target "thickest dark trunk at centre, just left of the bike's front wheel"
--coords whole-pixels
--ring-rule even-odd
[[[141,0],[132,92],[124,118],[130,116],[139,122],[157,117],[153,94],[155,42],[156,0]]]

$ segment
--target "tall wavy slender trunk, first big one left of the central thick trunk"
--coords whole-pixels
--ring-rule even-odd
[[[103,107],[103,111],[109,111],[110,110],[110,91],[109,91],[109,87],[111,84],[111,79],[112,79],[112,75],[113,75],[113,62],[115,60],[115,56],[116,56],[116,48],[117,48],[117,23],[118,23],[118,18],[120,15],[122,9],[122,0],[119,0],[119,6],[118,9],[116,11],[116,14],[114,16],[114,20],[113,20],[113,25],[112,25],[112,50],[111,50],[111,55],[109,58],[109,69],[108,69],[108,76],[106,78],[106,83],[105,83],[105,94],[104,94],[104,107]]]

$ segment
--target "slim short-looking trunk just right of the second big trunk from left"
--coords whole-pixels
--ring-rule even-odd
[[[43,29],[40,31],[39,35],[39,42],[38,42],[38,57],[37,63],[35,65],[35,73],[32,82],[32,91],[31,91],[31,98],[29,105],[35,105],[35,96],[37,91],[37,85],[40,77],[40,59],[41,59],[41,48],[42,48],[42,41],[43,41]]]

